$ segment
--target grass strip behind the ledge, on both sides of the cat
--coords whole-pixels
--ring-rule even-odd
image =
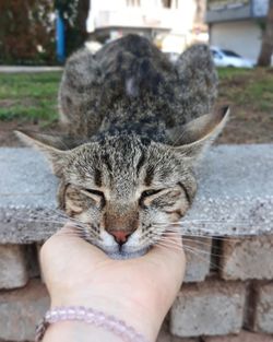
[[[249,111],[273,115],[273,71],[221,68],[218,103]],[[57,94],[61,72],[0,74],[0,120],[50,125],[58,117]]]

